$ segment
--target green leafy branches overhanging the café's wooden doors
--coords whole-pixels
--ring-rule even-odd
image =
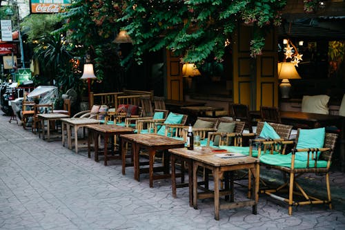
[[[132,37],[137,63],[145,52],[164,47],[183,55],[182,61],[197,63],[210,55],[221,59],[224,42],[240,21],[256,28],[278,25],[286,0],[128,0],[125,5],[118,21]],[[264,36],[255,33],[251,55],[261,53]]]

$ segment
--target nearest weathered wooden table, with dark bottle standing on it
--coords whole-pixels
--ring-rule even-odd
[[[221,209],[234,209],[245,206],[253,207],[253,214],[257,213],[257,202],[259,200],[259,160],[255,157],[235,157],[235,158],[220,158],[215,155],[210,147],[195,148],[193,151],[187,150],[186,148],[175,148],[170,149],[171,157],[182,157],[183,159],[189,159],[193,164],[193,206],[197,209],[197,199],[214,198],[215,206],[215,220],[219,220],[219,210]],[[173,162],[172,162],[173,163]],[[175,160],[174,160],[175,163]],[[198,193],[197,183],[197,168],[201,166],[210,171],[213,171],[214,191],[209,193]],[[233,193],[233,171],[239,169],[250,169],[255,177],[255,185],[253,186],[253,200],[244,200],[234,202]],[[225,190],[219,191],[219,180],[220,175],[224,175],[225,178]],[[172,183],[175,180],[175,172],[172,170]],[[190,180],[190,178],[189,178]],[[230,183],[229,183],[230,182]],[[250,189],[250,186],[248,186]],[[230,195],[230,203],[220,204],[219,195],[225,195],[228,200]],[[191,198],[191,195],[190,195]]]

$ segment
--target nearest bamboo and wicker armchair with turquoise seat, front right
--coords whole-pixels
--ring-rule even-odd
[[[299,137],[298,130],[297,133],[297,140]],[[328,204],[329,208],[332,209],[331,204],[331,188],[329,184],[329,169],[331,166],[332,161],[332,155],[333,150],[335,148],[335,143],[337,140],[337,134],[335,133],[326,133],[324,137],[324,146],[323,148],[300,148],[296,149],[293,148],[292,153],[290,155],[282,155],[284,154],[284,151],[282,154],[274,155],[274,157],[279,157],[282,159],[285,159],[288,161],[288,165],[282,166],[282,164],[278,164],[277,161],[271,161],[272,155],[262,155],[261,151],[258,153],[258,157],[260,157],[260,164],[264,166],[268,166],[272,169],[277,169],[279,171],[282,171],[285,175],[289,176],[289,180],[286,180],[284,184],[275,186],[273,189],[261,189],[260,193],[266,193],[267,195],[270,195],[272,198],[275,198],[277,200],[281,200],[283,202],[288,203],[288,215],[292,215],[293,212],[293,206],[299,206],[299,205],[305,205],[305,204]],[[288,144],[291,141],[264,141],[260,142],[260,145],[273,145],[273,144]],[[297,146],[297,145],[296,145]],[[260,149],[260,148],[259,148]],[[320,151],[321,154],[319,155],[319,158],[315,157],[317,152]],[[308,157],[307,160],[301,161],[297,160],[296,156],[299,155],[300,152],[307,152]],[[309,157],[312,157],[309,160]],[[264,160],[264,157],[266,160]],[[302,162],[302,164],[301,164]],[[302,166],[301,166],[302,165]],[[301,184],[296,181],[297,178],[302,178],[302,175],[304,173],[319,173],[320,175],[324,175],[326,177],[326,191],[327,191],[327,198],[326,199],[319,199],[315,198],[314,195],[308,195],[307,191],[302,188]],[[277,195],[277,193],[281,193],[284,190],[288,191],[288,198],[282,197],[280,194]],[[298,195],[302,198],[299,200],[294,200],[293,195]],[[304,198],[304,199],[303,199]]]

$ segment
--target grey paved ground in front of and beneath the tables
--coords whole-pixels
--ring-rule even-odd
[[[9,119],[0,112],[0,229],[345,229],[345,173],[336,167],[333,210],[294,207],[289,216],[286,204],[260,195],[257,215],[251,207],[221,210],[216,221],[211,199],[199,201],[195,210],[188,205],[188,188],[178,189],[174,199],[170,180],[156,180],[150,189],[148,175],[137,182],[131,167],[122,175],[120,161],[103,166],[85,148],[75,154]],[[273,181],[281,178],[268,173]],[[262,170],[262,176],[268,173]],[[318,175],[302,184],[326,194]],[[237,187],[235,199],[245,193]]]

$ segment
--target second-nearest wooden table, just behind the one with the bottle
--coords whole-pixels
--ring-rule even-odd
[[[141,148],[148,150],[149,157],[149,167],[148,173],[150,177],[150,188],[153,187],[153,180],[163,179],[170,177],[170,167],[169,167],[169,157],[164,156],[164,162],[162,167],[153,167],[155,162],[156,151],[162,150],[168,153],[170,148],[182,148],[184,147],[184,141],[176,140],[170,137],[157,135],[157,134],[131,134],[131,135],[121,135],[121,145],[124,146],[126,143],[132,144],[132,155],[134,161],[134,178],[135,180],[140,180],[140,173],[146,173],[147,169],[140,169],[139,165],[139,151]],[[122,157],[126,155],[124,148],[122,150]],[[126,162],[122,159],[122,174],[126,173],[125,170]],[[153,175],[153,171],[163,171],[164,175]]]

